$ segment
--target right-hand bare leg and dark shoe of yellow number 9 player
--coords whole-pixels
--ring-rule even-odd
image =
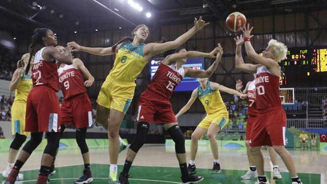
[[[220,163],[219,163],[219,159],[218,159],[218,143],[216,140],[216,135],[218,132],[220,132],[220,127],[215,123],[211,123],[211,125],[208,129],[208,132],[207,132],[207,136],[210,141],[210,147],[211,147],[211,151],[212,151],[212,155],[213,155],[213,159],[214,159],[213,160],[213,168],[210,171],[211,173],[221,172]]]

